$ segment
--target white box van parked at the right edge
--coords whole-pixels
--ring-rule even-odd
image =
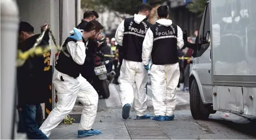
[[[210,0],[190,61],[194,119],[216,110],[256,116],[256,1]]]

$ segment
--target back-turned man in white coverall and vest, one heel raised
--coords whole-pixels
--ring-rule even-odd
[[[116,42],[123,50],[123,63],[120,70],[120,99],[123,106],[123,119],[129,118],[133,102],[137,119],[151,118],[146,114],[147,71],[143,67],[141,54],[143,39],[151,25],[147,22],[147,18],[152,6],[148,3],[142,3],[138,10],[139,14],[121,22],[115,35]],[[134,84],[136,85],[135,93]]]

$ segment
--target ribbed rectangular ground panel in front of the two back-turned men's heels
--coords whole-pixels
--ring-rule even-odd
[[[159,125],[151,120],[125,120],[129,135],[132,139],[169,139]]]

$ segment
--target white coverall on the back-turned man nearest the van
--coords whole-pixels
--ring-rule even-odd
[[[170,19],[159,19],[157,23],[164,26],[170,26],[172,21]],[[183,32],[179,26],[177,26],[177,30],[177,48],[181,49],[184,46]],[[144,65],[148,65],[149,63],[153,42],[153,32],[149,28],[143,41],[142,48],[142,63]],[[155,116],[172,116],[176,106],[176,88],[180,76],[179,63],[177,62],[176,64],[167,65],[152,64],[150,75]]]

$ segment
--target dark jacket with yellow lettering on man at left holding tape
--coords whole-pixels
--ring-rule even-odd
[[[34,35],[28,38],[18,48],[23,52],[33,47],[36,38]],[[49,44],[48,31],[39,46]],[[28,60],[17,68],[18,104],[45,103],[51,97],[52,68],[49,66],[51,51],[47,55],[29,57]]]

